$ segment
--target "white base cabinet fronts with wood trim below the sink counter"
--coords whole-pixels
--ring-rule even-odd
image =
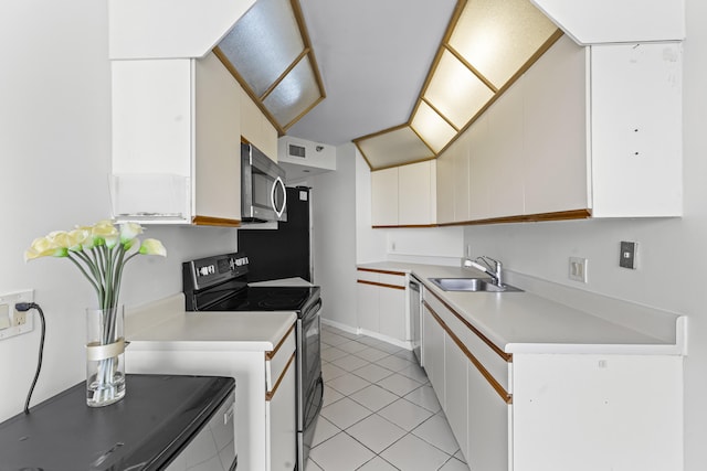
[[[425,297],[423,324],[425,371],[466,462],[509,469],[510,356],[434,296]]]

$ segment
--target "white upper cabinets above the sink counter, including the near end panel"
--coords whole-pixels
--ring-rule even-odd
[[[679,43],[561,38],[440,157],[440,223],[679,216],[680,121]]]

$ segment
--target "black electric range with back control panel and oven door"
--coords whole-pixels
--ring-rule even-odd
[[[297,470],[304,471],[324,397],[320,289],[318,286],[247,286],[249,258],[239,251],[183,263],[187,310],[297,313]]]

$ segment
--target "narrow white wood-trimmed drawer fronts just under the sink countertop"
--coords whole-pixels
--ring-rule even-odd
[[[485,338],[481,332],[475,332],[474,327],[471,325],[461,314],[457,314],[451,308],[445,306],[435,296],[429,296],[425,298],[425,302],[429,304],[429,309],[435,312],[440,319],[446,325],[447,334],[451,334],[468,351],[465,352],[467,356],[469,354],[473,358],[469,362],[475,364],[479,373],[484,374],[486,379],[497,389],[497,393],[505,396],[505,400],[509,400],[510,396],[510,382],[509,382],[509,362],[511,356],[504,353],[497,345]],[[454,339],[453,339],[454,340]],[[461,346],[457,345],[461,349]],[[485,370],[484,373],[482,370]],[[493,383],[497,383],[494,385]],[[503,388],[499,390],[498,387]]]

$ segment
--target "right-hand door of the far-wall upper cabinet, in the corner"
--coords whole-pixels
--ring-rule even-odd
[[[425,161],[398,168],[399,225],[426,225],[435,222],[433,215],[436,213],[436,202],[433,206],[432,199],[433,164],[432,161]],[[434,183],[436,185],[436,179]]]

